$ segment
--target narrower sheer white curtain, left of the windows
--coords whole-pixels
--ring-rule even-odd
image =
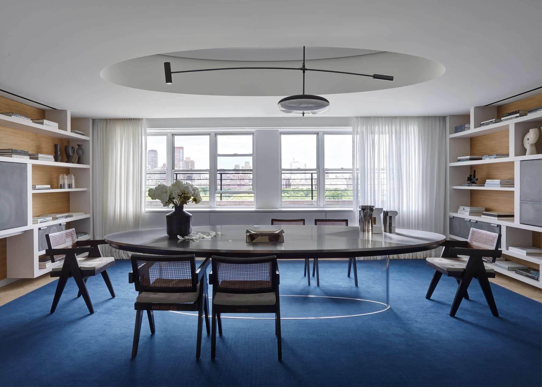
[[[138,229],[144,210],[145,120],[93,120],[94,238]],[[128,258],[107,245],[102,254]]]

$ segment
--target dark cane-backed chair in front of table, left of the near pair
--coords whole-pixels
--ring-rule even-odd
[[[135,299],[135,327],[132,357],[137,355],[141,320],[147,311],[151,334],[156,332],[154,311],[196,311],[198,327],[196,338],[196,359],[202,347],[203,315],[207,334],[209,328],[209,301],[206,258],[196,269],[195,255],[132,255],[130,282],[139,292]]]

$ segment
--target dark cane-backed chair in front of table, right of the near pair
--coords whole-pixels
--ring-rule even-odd
[[[216,353],[216,325],[222,335],[223,313],[274,313],[279,360],[282,359],[280,330],[279,267],[275,256],[226,258],[213,256],[211,359]]]

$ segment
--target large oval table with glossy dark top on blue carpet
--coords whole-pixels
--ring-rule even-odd
[[[389,309],[389,255],[432,250],[446,240],[442,234],[418,230],[396,229],[393,234],[372,234],[360,232],[358,227],[282,225],[280,228],[284,230],[284,243],[246,243],[246,230],[258,228],[272,227],[269,225],[192,227],[195,233],[209,234],[210,231],[221,233],[220,236],[197,241],[181,241],[177,237],[169,237],[165,228],[123,231],[108,234],[104,239],[114,248],[141,254],[195,254],[197,257],[218,255],[239,258],[275,255],[279,259],[374,257],[373,259],[384,260],[383,302],[351,299],[382,304],[384,308],[376,312],[345,317],[379,313]],[[352,267],[357,286],[355,262]],[[307,275],[309,276],[308,270]]]

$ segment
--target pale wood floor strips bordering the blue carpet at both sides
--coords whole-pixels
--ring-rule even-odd
[[[535,301],[542,302],[542,289],[535,288],[534,286],[528,285],[525,282],[518,281],[500,273],[495,274],[495,279],[489,279],[489,281],[510,289],[512,292],[519,293]],[[38,278],[22,279],[0,287],[0,306],[55,280],[57,280],[57,278],[50,278],[49,274],[44,274]]]

